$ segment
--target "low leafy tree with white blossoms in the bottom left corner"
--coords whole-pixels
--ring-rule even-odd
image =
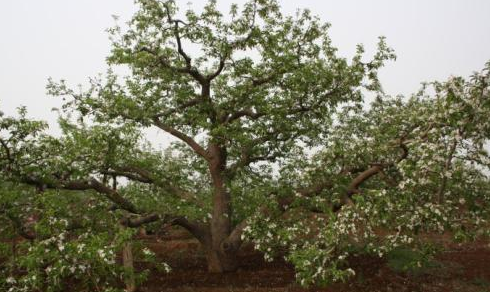
[[[127,273],[116,265],[116,255],[134,232],[116,230],[116,216],[107,208],[88,193],[40,196],[30,187],[2,182],[0,290],[115,292]]]

